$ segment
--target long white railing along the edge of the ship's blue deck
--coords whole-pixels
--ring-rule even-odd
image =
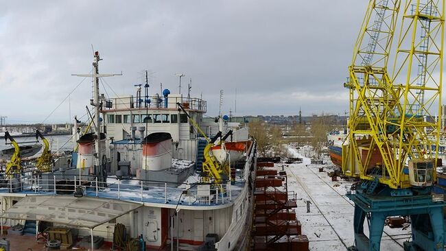
[[[3,188],[7,187],[6,190],[9,193],[29,195],[70,195],[75,193],[76,188],[80,188],[82,195],[89,197],[190,206],[227,204],[233,200],[233,196],[238,195],[238,187],[230,182],[215,187],[204,186],[208,189],[207,193],[203,193],[202,188],[198,189],[198,187],[203,187],[199,184],[206,183],[178,184],[117,177],[108,177],[106,181],[102,181],[96,176],[87,175],[68,177],[67,175],[30,174],[7,180]]]

